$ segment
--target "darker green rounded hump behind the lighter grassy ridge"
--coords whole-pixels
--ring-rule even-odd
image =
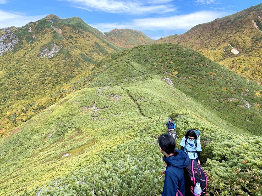
[[[108,56],[92,70],[71,88],[80,88],[86,81],[89,87],[99,87],[135,83],[154,74],[168,77],[175,88],[220,118],[205,116],[210,122],[219,126],[224,121],[243,133],[261,135],[261,87],[182,45],[134,47]]]

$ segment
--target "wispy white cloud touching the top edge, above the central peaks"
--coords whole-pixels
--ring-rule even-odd
[[[0,0],[1,1],[1,0]],[[175,11],[172,4],[167,4],[171,0],[146,0],[143,2],[130,0],[66,0],[74,3],[73,7],[86,9],[89,11],[104,11],[107,13],[128,13],[128,14],[148,14],[167,13]]]

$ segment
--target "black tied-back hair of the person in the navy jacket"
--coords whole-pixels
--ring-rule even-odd
[[[178,152],[176,151],[176,140],[174,140],[174,138],[171,135],[160,135],[157,139],[157,143],[167,154],[174,153],[175,156],[178,155]]]

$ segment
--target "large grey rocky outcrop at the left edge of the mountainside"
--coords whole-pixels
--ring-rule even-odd
[[[6,34],[0,37],[0,56],[8,50],[13,50],[15,44],[20,42],[18,37],[12,33],[12,27],[4,28],[4,31],[6,31]]]

